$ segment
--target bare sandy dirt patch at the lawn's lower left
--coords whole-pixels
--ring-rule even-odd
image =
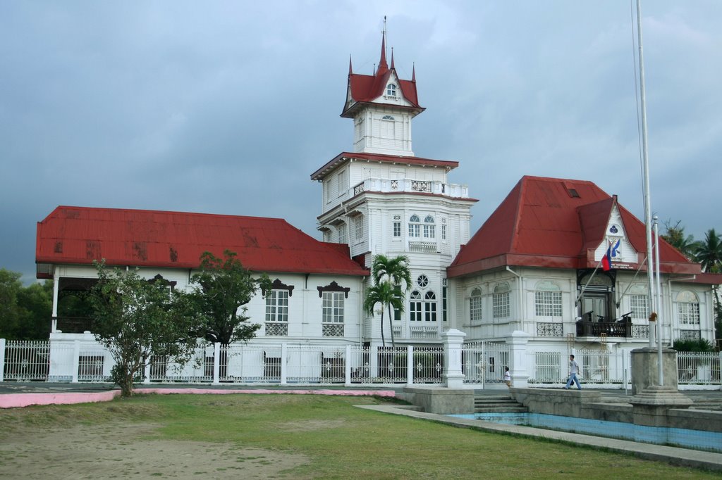
[[[308,462],[231,443],[149,440],[154,425],[25,430],[0,441],[3,479],[283,479]]]

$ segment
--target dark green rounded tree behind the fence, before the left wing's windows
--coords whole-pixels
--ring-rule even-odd
[[[196,285],[193,299],[204,316],[203,337],[222,346],[246,341],[256,336],[258,324],[247,323],[245,305],[256,295],[271,290],[271,280],[263,274],[254,278],[236,258],[235,252],[225,250],[224,258],[211,252],[201,254],[201,272],[191,277]]]

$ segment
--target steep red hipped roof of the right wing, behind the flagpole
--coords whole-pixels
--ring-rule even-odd
[[[448,276],[506,265],[596,267],[593,250],[604,241],[614,205],[619,208],[627,239],[637,252],[645,252],[644,223],[592,182],[522,177],[469,244],[462,247],[448,268]],[[663,272],[700,272],[700,265],[662,239],[659,249]]]

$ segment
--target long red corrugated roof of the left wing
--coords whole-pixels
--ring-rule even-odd
[[[248,270],[368,275],[348,246],[326,244],[279,218],[60,206],[38,222],[35,262],[195,268],[201,253],[238,253]]]

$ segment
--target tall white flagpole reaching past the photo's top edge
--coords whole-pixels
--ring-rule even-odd
[[[642,6],[637,0],[637,36],[639,43],[639,83],[640,101],[642,110],[642,158],[643,158],[643,184],[644,184],[644,224],[647,233],[647,276],[649,283],[649,308],[652,309],[655,303],[654,295],[654,262],[651,261],[652,253],[652,205],[649,195],[649,156],[647,148],[647,102],[644,88],[644,53],[642,51]],[[656,324],[649,326],[649,346],[654,347]]]

